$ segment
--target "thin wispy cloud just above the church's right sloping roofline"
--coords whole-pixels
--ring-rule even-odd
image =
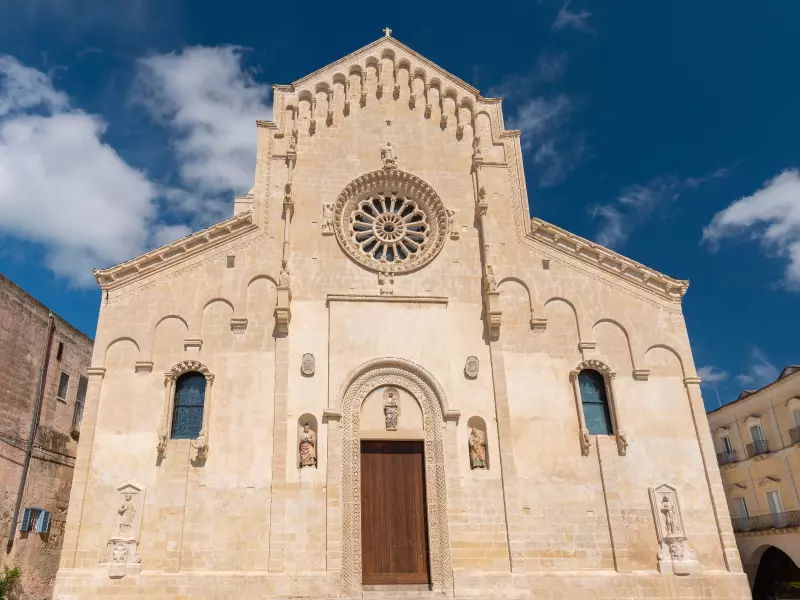
[[[593,217],[601,219],[595,240],[608,248],[623,246],[634,229],[680,198],[687,189],[697,189],[704,183],[727,177],[728,172],[728,169],[717,169],[708,175],[686,179],[659,176],[646,185],[628,186],[614,202],[590,209]]]

